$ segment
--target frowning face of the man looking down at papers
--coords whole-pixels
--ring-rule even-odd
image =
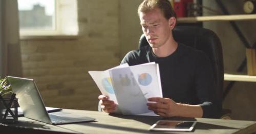
[[[163,46],[171,38],[174,17],[166,19],[158,8],[146,13],[140,12],[139,17],[142,31],[152,48]]]

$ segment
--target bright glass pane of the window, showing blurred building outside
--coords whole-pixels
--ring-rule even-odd
[[[54,0],[18,0],[22,30],[55,30]]]

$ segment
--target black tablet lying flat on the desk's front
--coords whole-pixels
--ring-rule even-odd
[[[196,121],[170,121],[160,120],[151,126],[153,131],[192,131]]]

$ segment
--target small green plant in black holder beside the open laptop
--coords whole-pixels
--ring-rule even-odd
[[[15,123],[18,102],[7,78],[0,79],[0,123]]]

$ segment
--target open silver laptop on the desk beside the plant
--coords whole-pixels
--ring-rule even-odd
[[[29,119],[53,125],[95,121],[94,118],[64,111],[48,113],[33,79],[7,76],[7,80],[18,98],[18,104],[22,108],[24,116]]]

